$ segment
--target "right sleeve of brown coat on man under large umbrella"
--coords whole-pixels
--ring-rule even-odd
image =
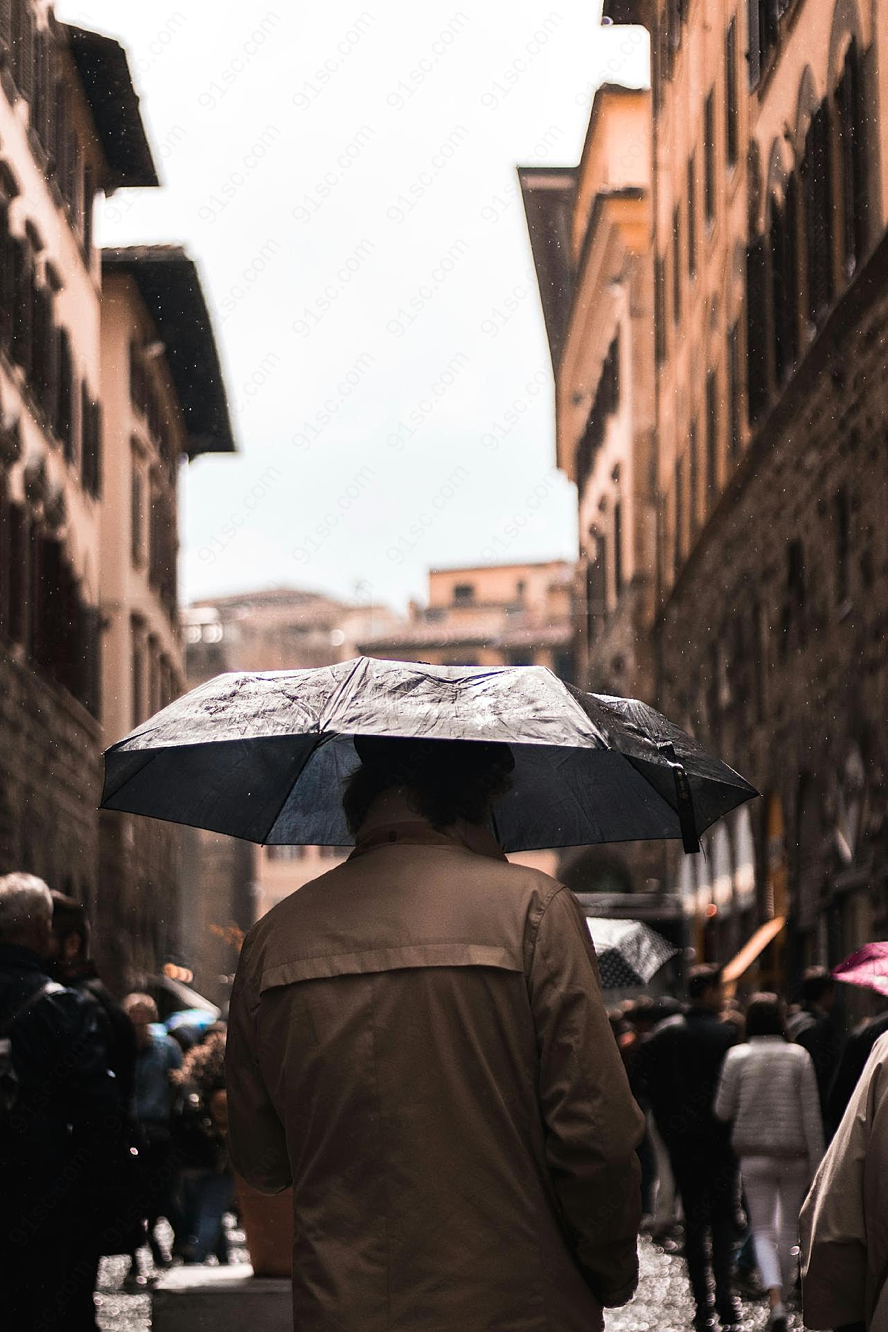
[[[628,1088],[600,992],[595,951],[574,896],[546,906],[530,960],[546,1158],[575,1257],[604,1307],[638,1284],[644,1119]]]

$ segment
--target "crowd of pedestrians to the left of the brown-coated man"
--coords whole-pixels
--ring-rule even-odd
[[[79,902],[0,878],[1,1325],[97,1332],[104,1255],[129,1255],[128,1289],[145,1251],[228,1261],[225,1024],[174,1036],[150,995],[103,984]]]

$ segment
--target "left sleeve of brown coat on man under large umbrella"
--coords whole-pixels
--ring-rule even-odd
[[[234,1169],[248,1184],[261,1193],[281,1193],[293,1180],[284,1124],[258,1066],[257,1007],[248,938],[232,986],[225,1046],[228,1147]]]

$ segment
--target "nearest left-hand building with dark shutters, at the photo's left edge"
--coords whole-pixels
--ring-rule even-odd
[[[101,268],[95,196],[154,185],[117,43],[0,7],[0,870],[95,908]],[[118,99],[117,123],[109,107]]]

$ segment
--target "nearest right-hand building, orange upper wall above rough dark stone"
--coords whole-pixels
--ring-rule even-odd
[[[606,0],[651,32],[663,709],[763,799],[674,879],[724,960],[888,924],[888,24],[856,0]]]

